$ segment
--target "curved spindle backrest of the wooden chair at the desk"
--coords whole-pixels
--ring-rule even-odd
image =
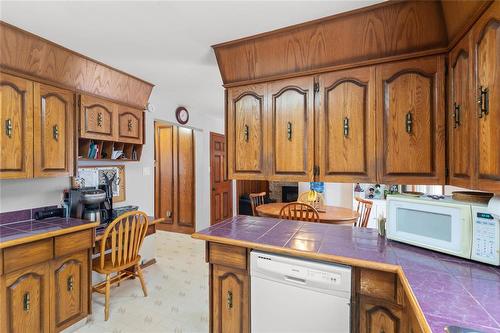
[[[133,211],[118,216],[104,231],[101,241],[100,266],[104,268],[106,244],[111,244],[113,267],[126,266],[137,259],[148,230],[148,216],[144,212]],[[109,244],[109,243],[108,243]]]

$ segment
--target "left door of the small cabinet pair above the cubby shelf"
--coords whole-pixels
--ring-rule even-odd
[[[80,137],[116,140],[115,104],[97,97],[80,96]]]

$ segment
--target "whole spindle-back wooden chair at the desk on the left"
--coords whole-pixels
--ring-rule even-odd
[[[105,295],[104,317],[109,319],[110,288],[131,277],[138,277],[144,297],[148,296],[142,275],[139,250],[148,230],[148,216],[139,211],[125,213],[117,217],[104,231],[100,256],[92,261],[92,269],[106,275],[106,280],[96,284],[92,290]],[[106,244],[111,250],[106,253]],[[116,275],[111,278],[111,274]]]

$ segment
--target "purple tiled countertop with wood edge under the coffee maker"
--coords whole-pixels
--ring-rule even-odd
[[[74,218],[53,217],[0,225],[0,249],[96,227],[98,222]]]

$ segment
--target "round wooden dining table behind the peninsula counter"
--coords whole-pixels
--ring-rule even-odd
[[[257,206],[255,210],[259,216],[279,217],[280,211],[287,202],[273,202]],[[330,224],[354,224],[359,217],[355,210],[338,206],[323,206],[318,210],[319,221]]]

